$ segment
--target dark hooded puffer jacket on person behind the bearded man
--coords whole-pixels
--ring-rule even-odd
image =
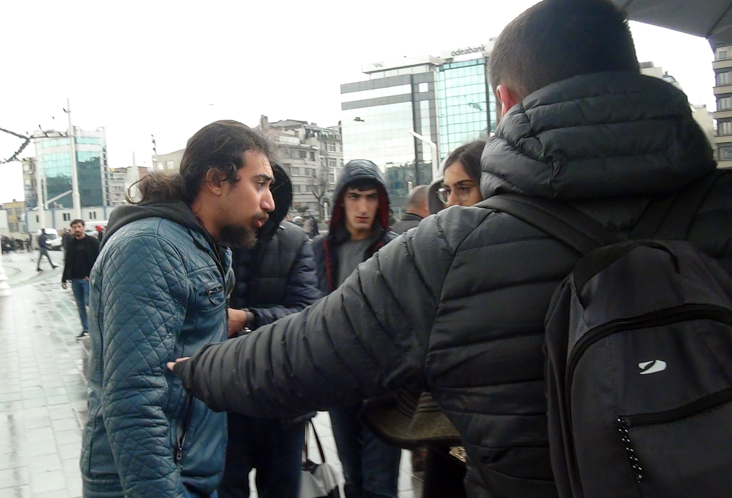
[[[283,222],[292,203],[292,185],[285,172],[273,165],[275,211],[259,230],[254,249],[234,249],[236,286],[229,306],[248,308],[254,330],[296,313],[320,298],[313,246],[302,228]]]

